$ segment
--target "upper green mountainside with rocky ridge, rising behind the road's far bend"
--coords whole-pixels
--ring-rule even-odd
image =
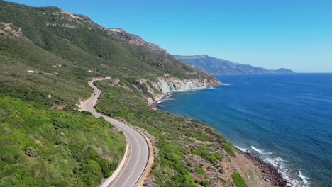
[[[138,36],[111,31],[60,8],[0,1],[0,22],[1,91],[43,93],[43,102],[51,105],[72,107],[87,98],[90,77],[120,77],[133,84],[163,76],[214,79]],[[62,89],[61,96],[56,88]],[[47,92],[51,100],[45,99]]]

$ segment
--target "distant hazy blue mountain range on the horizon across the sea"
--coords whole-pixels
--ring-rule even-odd
[[[179,60],[192,65],[206,74],[293,74],[291,69],[265,69],[248,64],[238,64],[228,60],[209,57],[208,55],[181,56],[173,55]]]

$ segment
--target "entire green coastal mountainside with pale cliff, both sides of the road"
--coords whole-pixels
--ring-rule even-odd
[[[96,109],[153,142],[145,186],[234,186],[240,175],[256,186],[263,179],[209,125],[149,105],[167,92],[220,82],[137,35],[57,7],[0,1],[0,63],[0,186],[97,186],[111,175],[125,137],[79,111],[93,77],[111,77],[96,82]]]

